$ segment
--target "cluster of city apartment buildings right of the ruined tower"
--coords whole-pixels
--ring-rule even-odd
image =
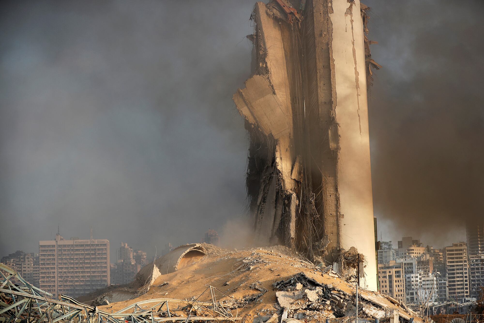
[[[427,304],[434,315],[458,308],[452,302],[471,304],[484,288],[483,224],[468,223],[465,241],[439,248],[411,236],[381,242],[379,290],[407,304]]]

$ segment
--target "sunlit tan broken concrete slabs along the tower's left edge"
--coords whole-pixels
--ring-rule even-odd
[[[260,64],[267,68],[262,70],[265,74],[256,74],[248,79],[245,82],[245,88],[239,89],[233,96],[236,107],[244,119],[263,135],[275,139],[274,154],[278,176],[275,178],[275,182],[271,180],[261,184],[255,213],[256,229],[260,230],[262,227],[272,226],[269,228],[271,234],[267,242],[274,240],[273,237],[281,223],[284,209],[282,201],[287,196],[294,194],[295,179],[291,178],[291,175],[294,174],[300,179],[300,172],[294,170],[294,167],[298,167],[298,164],[293,165],[295,158],[292,158],[290,149],[293,140],[292,112],[288,98],[286,58],[281,31],[278,23],[272,18],[273,16],[271,9],[265,3],[256,3],[252,17],[256,21],[256,31],[260,33],[257,39],[261,41],[264,52]],[[269,214],[270,219],[265,219],[266,221],[261,223],[257,213],[262,215],[266,205],[266,201],[262,201],[261,197],[266,192],[274,191],[274,185],[279,187],[281,184],[282,191],[278,190],[277,194],[271,193],[273,196],[271,195],[272,198],[269,201],[275,206],[274,214],[271,212]],[[297,203],[295,196],[294,198],[291,197],[290,200]],[[290,209],[295,211],[292,206]],[[286,230],[288,231],[286,236],[288,236],[289,245],[294,246],[295,212],[291,215],[293,216],[291,216],[290,224]]]

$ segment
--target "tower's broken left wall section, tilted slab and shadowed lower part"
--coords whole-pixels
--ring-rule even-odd
[[[295,180],[291,178],[296,158],[293,152],[292,106],[285,42],[279,19],[274,18],[274,13],[265,3],[256,3],[254,21],[257,33],[254,41],[257,46],[253,57],[256,64],[253,65],[258,74],[248,79],[245,88],[239,89],[233,99],[245,120],[267,136],[267,140],[260,141],[260,134],[246,125],[253,142],[267,145],[266,148],[273,153],[265,161],[264,170],[254,167],[261,178],[257,198],[255,192],[252,192],[253,196],[249,192],[251,210],[254,212],[255,238],[260,244],[281,243],[279,238],[282,235],[279,231],[283,231],[283,235],[289,236],[286,240],[291,244],[294,239],[290,237],[295,235],[294,221],[287,220],[291,216],[284,216],[283,210],[295,210],[294,205],[297,204]],[[254,164],[257,165],[257,162]],[[292,217],[295,218],[295,215]],[[280,230],[281,225],[285,229]]]

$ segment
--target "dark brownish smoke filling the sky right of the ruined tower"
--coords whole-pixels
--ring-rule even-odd
[[[484,3],[365,3],[384,66],[369,102],[375,214],[389,235],[465,239],[465,220],[484,219]]]

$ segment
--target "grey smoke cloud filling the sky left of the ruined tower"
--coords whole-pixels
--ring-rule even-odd
[[[2,1],[0,257],[61,234],[158,254],[245,207],[253,1]]]

